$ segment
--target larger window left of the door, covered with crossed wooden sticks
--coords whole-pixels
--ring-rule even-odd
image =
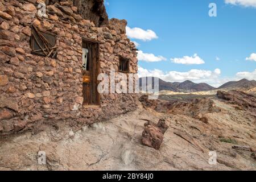
[[[31,49],[35,55],[56,58],[56,35],[32,26]]]

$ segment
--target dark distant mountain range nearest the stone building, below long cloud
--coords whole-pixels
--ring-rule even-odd
[[[152,78],[152,77],[151,77]],[[140,86],[142,78],[139,78]],[[154,85],[154,79],[152,79],[152,85]],[[166,82],[159,79],[159,90],[169,90],[173,92],[201,92],[216,89],[205,83],[196,84],[192,81],[184,82]]]

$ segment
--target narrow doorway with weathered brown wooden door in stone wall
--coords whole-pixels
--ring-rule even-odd
[[[83,106],[99,106],[100,95],[98,94],[97,76],[98,67],[98,43],[82,39],[82,97]]]

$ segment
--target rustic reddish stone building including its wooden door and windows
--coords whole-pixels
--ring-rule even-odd
[[[138,71],[126,24],[108,20],[103,0],[0,0],[0,134],[135,110],[135,94],[97,91],[99,73]]]

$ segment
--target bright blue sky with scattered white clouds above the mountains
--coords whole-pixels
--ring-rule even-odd
[[[210,17],[209,3],[217,5]],[[256,0],[108,0],[139,46],[139,75],[165,81],[256,80]]]

